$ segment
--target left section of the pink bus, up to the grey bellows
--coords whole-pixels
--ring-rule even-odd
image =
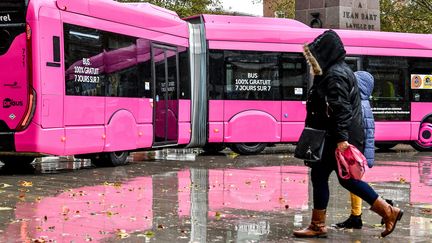
[[[189,32],[176,13],[2,0],[0,40],[2,162],[52,154],[121,165],[128,151],[189,143]]]

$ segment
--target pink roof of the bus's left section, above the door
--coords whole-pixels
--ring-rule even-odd
[[[53,2],[63,11],[188,38],[188,26],[175,12],[150,3],[119,3],[114,0],[32,0]]]

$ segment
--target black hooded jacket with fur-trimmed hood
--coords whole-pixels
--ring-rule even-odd
[[[348,141],[363,151],[364,132],[360,95],[353,71],[345,63],[345,48],[333,30],[304,45],[314,74],[308,92],[306,126],[326,130],[323,160],[335,158],[337,143]]]

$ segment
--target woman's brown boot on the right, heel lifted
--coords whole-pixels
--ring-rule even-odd
[[[403,215],[401,209],[391,206],[380,197],[372,204],[371,210],[383,217],[385,230],[381,233],[382,237],[386,237],[393,232],[397,221],[399,221]]]

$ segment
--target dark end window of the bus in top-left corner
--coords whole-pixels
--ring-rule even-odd
[[[25,32],[25,14],[28,0],[0,1],[0,55],[5,54],[13,40]]]

